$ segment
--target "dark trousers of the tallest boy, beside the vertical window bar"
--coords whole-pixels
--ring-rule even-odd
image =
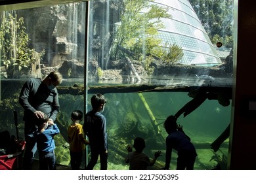
[[[100,156],[100,170],[106,170],[108,168],[108,153],[91,147],[91,159],[86,167],[87,170],[93,170],[98,161],[98,156]]]

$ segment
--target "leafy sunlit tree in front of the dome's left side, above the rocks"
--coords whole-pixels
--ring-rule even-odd
[[[115,59],[121,58],[120,46],[133,53],[130,55],[133,59],[143,60],[149,55],[160,58],[160,54],[164,52],[167,56],[172,48],[170,50],[162,48],[161,39],[157,35],[158,29],[164,27],[161,18],[171,18],[171,15],[167,13],[168,8],[152,4],[148,0],[125,0],[124,3],[125,11],[117,27],[113,49]],[[146,61],[147,67],[148,63]],[[152,73],[151,69],[148,73]]]

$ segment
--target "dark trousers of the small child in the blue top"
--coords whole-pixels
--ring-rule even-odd
[[[40,170],[54,170],[55,154],[52,152],[39,152],[39,169]]]

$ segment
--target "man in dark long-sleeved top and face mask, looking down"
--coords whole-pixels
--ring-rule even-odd
[[[54,122],[60,109],[56,86],[62,82],[58,71],[51,72],[43,80],[30,78],[20,92],[19,103],[24,108],[24,135],[26,150],[24,151],[23,169],[32,169],[33,158],[37,151],[33,133],[37,130],[35,121],[47,114],[49,122]]]

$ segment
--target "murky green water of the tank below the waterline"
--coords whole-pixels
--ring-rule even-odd
[[[1,123],[0,131],[9,130],[16,135],[12,111],[18,112],[18,133],[24,137],[22,122],[23,110],[18,104],[18,94],[23,81],[5,83],[2,88]],[[14,87],[14,89],[13,89]],[[87,109],[91,110],[87,96]],[[146,101],[142,102],[138,93],[106,93],[106,103],[103,114],[106,116],[106,129],[108,133],[109,158],[108,169],[129,169],[124,158],[127,155],[125,146],[133,144],[135,137],[143,137],[146,141],[144,153],[153,158],[154,152],[161,150],[162,156],[156,164],[149,169],[161,169],[165,161],[165,137],[167,133],[163,129],[163,122],[167,116],[175,114],[192,98],[186,92],[148,92],[142,93]],[[84,110],[83,95],[60,95],[60,113],[56,124],[60,128],[60,134],[55,137],[56,160],[62,165],[70,165],[68,143],[66,142],[66,129],[71,123],[72,110]],[[151,114],[150,114],[150,112]],[[152,121],[154,116],[154,122]],[[184,131],[190,136],[196,146],[198,157],[194,169],[213,169],[221,163],[221,168],[226,169],[226,156],[228,154],[228,139],[223,143],[217,154],[211,150],[211,142],[221,135],[230,123],[231,105],[221,106],[217,100],[206,100],[185,118],[181,115],[178,119]],[[203,145],[202,145],[203,144]],[[89,154],[90,156],[90,154]],[[176,168],[177,154],[173,152],[171,169]],[[99,161],[98,161],[99,162]],[[84,165],[82,165],[84,166]],[[81,167],[82,168],[82,167]],[[99,169],[99,163],[95,169]]]

